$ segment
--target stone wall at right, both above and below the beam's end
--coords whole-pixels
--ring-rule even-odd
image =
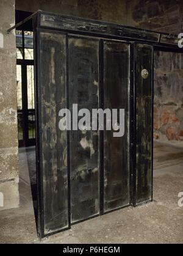
[[[182,0],[127,0],[127,23],[183,32]],[[154,138],[183,145],[183,54],[154,54]]]

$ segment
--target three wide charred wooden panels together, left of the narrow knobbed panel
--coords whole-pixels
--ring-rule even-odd
[[[129,43],[40,32],[37,158],[41,236],[129,205]],[[59,111],[124,109],[122,137],[60,131]],[[78,117],[78,122],[81,117]],[[119,120],[120,122],[120,120]],[[77,125],[77,124],[75,124]]]

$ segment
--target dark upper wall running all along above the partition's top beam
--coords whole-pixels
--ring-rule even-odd
[[[182,0],[16,0],[16,9],[47,10],[176,33],[183,24]]]

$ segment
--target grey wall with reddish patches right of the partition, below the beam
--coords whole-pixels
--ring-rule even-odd
[[[154,54],[154,138],[183,145],[183,54]]]

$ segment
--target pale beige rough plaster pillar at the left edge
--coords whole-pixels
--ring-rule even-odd
[[[18,141],[16,119],[16,44],[15,34],[7,29],[15,22],[15,1],[0,1],[0,192],[4,207],[18,207]]]

